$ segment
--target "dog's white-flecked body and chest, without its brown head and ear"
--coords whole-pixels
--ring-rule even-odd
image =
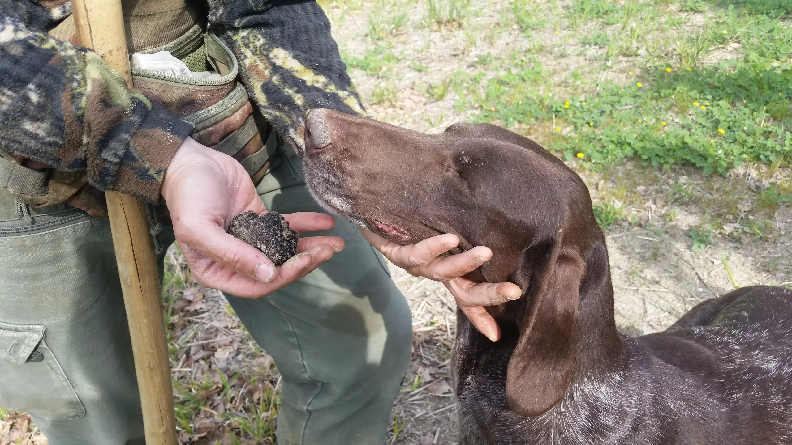
[[[458,376],[460,445],[792,443],[792,292],[745,287],[623,344],[626,367],[573,383],[538,417],[508,408],[513,346],[478,350]]]

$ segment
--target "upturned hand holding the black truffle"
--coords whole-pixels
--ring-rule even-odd
[[[298,254],[280,268],[253,246],[226,233],[243,211],[261,214],[253,182],[239,162],[187,138],[168,165],[162,196],[173,231],[192,276],[203,286],[245,298],[260,298],[306,276],[344,248],[337,237],[300,238]],[[284,215],[298,232],[326,230],[331,216],[301,212]]]

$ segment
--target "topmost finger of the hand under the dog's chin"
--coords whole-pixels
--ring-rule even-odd
[[[459,245],[459,237],[455,234],[436,235],[413,245],[398,245],[389,242],[377,234],[361,229],[364,238],[385,255],[393,264],[400,268],[409,268],[428,264],[441,253]]]

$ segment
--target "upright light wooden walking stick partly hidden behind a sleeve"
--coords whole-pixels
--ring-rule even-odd
[[[132,87],[120,0],[71,0],[77,35]],[[147,445],[176,445],[173,386],[162,321],[157,257],[143,202],[106,192],[112,244],[124,292]]]

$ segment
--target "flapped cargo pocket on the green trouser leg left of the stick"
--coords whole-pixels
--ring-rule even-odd
[[[50,420],[79,419],[86,410],[47,347],[44,330],[0,322],[0,407]]]

